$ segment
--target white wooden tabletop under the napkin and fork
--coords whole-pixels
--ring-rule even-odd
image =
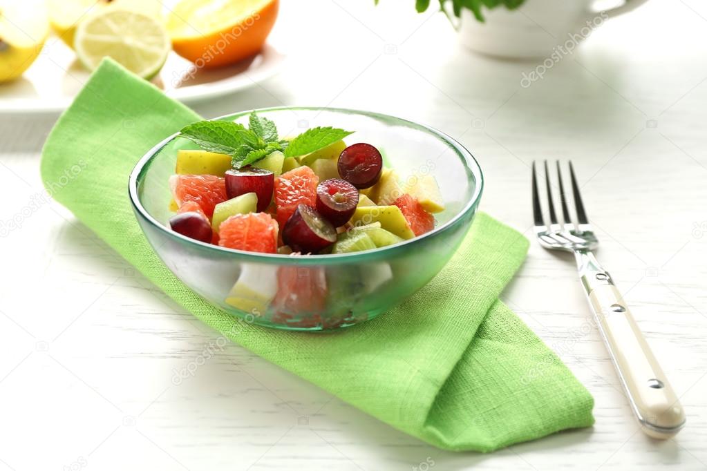
[[[540,81],[457,47],[412,1],[284,1],[279,77],[198,108],[356,107],[462,141],[482,208],[530,237],[530,162],[571,159],[602,262],[677,389],[686,428],[638,431],[571,260],[532,244],[503,299],[591,391],[592,429],[447,453],[269,364],[175,306],[57,203],[39,199],[55,116],[0,117],[1,470],[633,470],[707,467],[707,6],[652,0]],[[209,354],[209,342],[212,342]],[[207,353],[204,354],[204,350]],[[174,371],[204,360],[178,386]]]

